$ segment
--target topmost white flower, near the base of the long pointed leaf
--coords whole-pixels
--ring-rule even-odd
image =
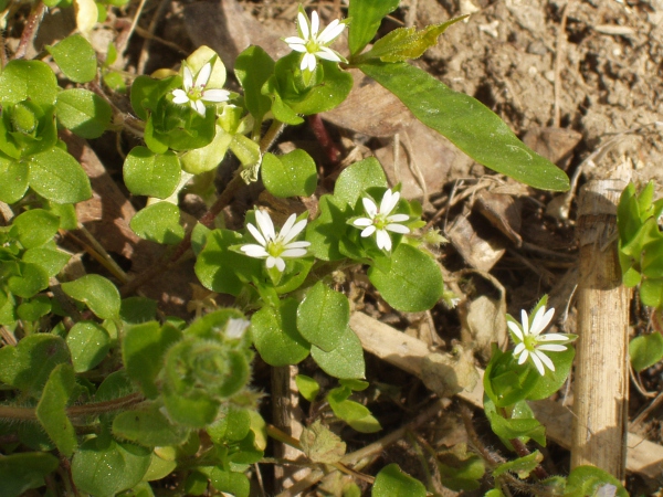
[[[345,27],[345,22],[335,19],[320,34],[318,34],[320,20],[317,12],[315,10],[313,11],[309,21],[306,14],[301,10],[297,14],[297,31],[299,35],[290,36],[283,41],[295,52],[302,52],[304,54],[302,64],[299,65],[302,71],[305,68],[314,71],[317,59],[333,62],[347,62],[343,55],[327,46],[343,33]]]

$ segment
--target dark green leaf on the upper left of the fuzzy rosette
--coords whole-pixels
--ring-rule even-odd
[[[164,355],[177,341],[181,331],[157,321],[130,326],[122,341],[122,359],[127,374],[140,385],[148,399],[159,394],[156,379],[164,368]]]

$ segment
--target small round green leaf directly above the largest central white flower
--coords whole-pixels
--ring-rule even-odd
[[[299,148],[284,156],[265,154],[261,175],[274,197],[309,197],[317,186],[315,162]]]

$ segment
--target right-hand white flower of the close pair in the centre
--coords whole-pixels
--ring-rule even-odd
[[[352,225],[362,230],[361,236],[364,237],[376,233],[378,248],[391,251],[391,236],[389,236],[389,233],[387,233],[388,231],[401,234],[410,233],[410,229],[408,226],[398,224],[408,221],[408,219],[410,219],[408,214],[389,215],[393,208],[396,208],[398,204],[399,200],[400,193],[391,190],[387,190],[385,192],[382,201],[380,202],[380,209],[378,209],[372,200],[366,197],[361,199],[368,218],[356,219],[352,221]]]

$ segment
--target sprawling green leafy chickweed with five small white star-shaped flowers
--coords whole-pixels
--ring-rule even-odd
[[[422,123],[498,173],[552,191],[567,190],[568,178],[480,102],[408,63],[461,18],[396,29],[367,50],[399,0],[350,0],[346,18],[326,27],[317,12],[299,8],[293,35],[283,40],[292,52],[273,60],[260,46],[245,49],[234,61],[241,91],[233,93],[221,57],[207,46],[179,71],[127,80],[112,70],[114,47],[102,60],[86,33],[127,3],[0,1],[3,28],[24,30],[0,73],[0,496],[151,496],[169,488],[168,495],[248,497],[271,437],[303,448],[312,465],[357,475],[339,463],[346,445],[329,430],[329,416],[294,442],[266,425],[257,411],[263,394],[251,385],[252,361],[259,355],[281,367],[311,356],[338,381],[323,392],[335,422],[380,431],[379,419],[350,399],[369,383],[361,343],[349,326],[350,304],[335,289],[335,274],[362,266],[399,311],[424,311],[442,297],[452,302],[427,250],[435,236],[422,232],[421,205],[388,184],[380,163],[369,158],[343,170],[314,216],[277,218],[254,207],[244,228],[231,230],[220,221],[222,209],[257,181],[276,198],[314,193],[317,167],[307,152],[269,149],[284,127],[346,99],[352,88],[348,68],[376,80]],[[54,8],[75,8],[78,32],[25,59],[25,44]],[[348,52],[341,54],[332,45],[346,34]],[[112,103],[108,89],[126,92],[124,105]],[[120,131],[139,142],[124,160],[124,184],[147,198],[130,228],[170,248],[151,273],[133,279],[109,263],[102,274],[72,278],[63,272],[71,256],[59,243],[63,233],[82,229],[74,204],[93,189],[61,137]],[[227,155],[239,167],[217,193],[214,171]],[[213,193],[208,212],[185,223],[179,202],[193,187]],[[642,214],[633,222],[655,231],[661,209],[646,195],[635,201],[646,220]],[[629,205],[631,215],[635,208]],[[634,240],[642,229],[627,224],[627,237]],[[659,243],[657,233],[646,243]],[[622,253],[633,257],[632,245],[623,243]],[[641,272],[643,299],[646,289],[660,308],[663,266],[651,263],[649,253],[632,263],[629,277],[635,282]],[[137,293],[186,254],[196,258],[200,284],[233,297],[234,306],[185,321]],[[443,483],[478,488],[487,473],[495,483],[491,496],[505,495],[512,485],[525,491],[534,485],[536,495],[627,495],[593,468],[543,475],[541,454],[525,447],[529,440],[546,445],[545,426],[527,401],[555,393],[573,358],[572,336],[544,332],[551,318],[545,297],[520,321],[509,318],[514,349],[495,348],[486,368],[485,412],[514,458],[494,466],[470,454],[455,469],[441,469],[450,475]],[[308,400],[319,395],[312,378],[298,377],[297,385]],[[427,495],[424,484],[396,464],[372,480],[376,497]],[[343,495],[358,496],[358,483],[365,485],[351,482]]]

